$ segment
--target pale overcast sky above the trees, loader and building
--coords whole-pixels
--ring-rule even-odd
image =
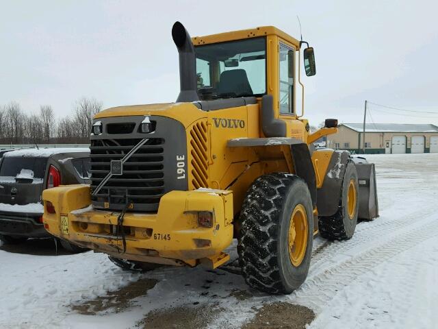
[[[0,0],[0,106],[51,104],[60,117],[79,97],[105,108],[175,101],[175,21],[191,36],[274,25],[299,38],[298,14],[315,48],[318,73],[302,79],[312,125],[361,122],[365,99],[438,113],[437,3]],[[438,114],[370,112],[375,123],[438,124]]]

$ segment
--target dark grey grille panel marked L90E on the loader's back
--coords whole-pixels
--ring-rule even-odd
[[[112,175],[92,194],[94,208],[120,211],[129,204],[127,211],[157,212],[163,195],[188,190],[185,127],[175,119],[151,115],[153,132],[142,133],[144,117],[99,118],[102,134],[90,136],[92,193],[110,173],[112,160],[123,160],[141,141],[146,143],[140,143],[142,146],[118,167],[121,175]],[[132,132],[127,133],[129,130]]]

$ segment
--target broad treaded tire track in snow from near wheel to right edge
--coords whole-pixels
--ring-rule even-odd
[[[367,273],[374,266],[434,237],[437,220],[437,215],[431,215],[422,220],[426,223],[421,225],[417,222],[420,224],[419,227],[398,234],[366,252],[338,263],[312,278],[307,278],[302,287],[292,293],[292,300],[320,311],[338,291],[350,284],[357,276]]]

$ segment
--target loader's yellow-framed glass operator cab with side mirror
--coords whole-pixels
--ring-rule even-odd
[[[305,73],[316,73],[313,48],[308,42],[298,41],[275,27],[196,37],[192,41],[196,93],[201,101],[272,95],[280,114],[296,114],[294,95],[302,45],[306,45]]]

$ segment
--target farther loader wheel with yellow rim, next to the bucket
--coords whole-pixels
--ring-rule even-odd
[[[354,197],[354,200],[352,198]],[[320,235],[329,240],[348,240],[355,234],[359,211],[359,184],[355,164],[347,163],[342,181],[339,207],[333,216],[320,217]]]

